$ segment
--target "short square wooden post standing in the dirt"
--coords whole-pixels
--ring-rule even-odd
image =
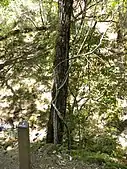
[[[29,124],[26,121],[18,126],[19,169],[30,169]]]

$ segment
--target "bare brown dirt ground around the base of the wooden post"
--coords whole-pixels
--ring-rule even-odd
[[[0,169],[19,169],[18,147],[0,149]],[[31,169],[104,169],[97,164],[85,164],[66,153],[58,153],[51,146],[31,148]]]

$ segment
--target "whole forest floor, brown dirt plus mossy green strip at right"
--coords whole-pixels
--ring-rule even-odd
[[[19,169],[17,139],[7,138],[8,133],[0,134],[0,169]],[[31,138],[35,139],[33,136]],[[32,142],[30,150],[31,169],[127,169],[127,160],[126,164],[121,165],[112,162],[109,156],[85,150],[71,150],[69,155],[65,147],[42,141]]]

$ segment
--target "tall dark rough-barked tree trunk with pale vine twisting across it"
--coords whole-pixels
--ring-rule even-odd
[[[54,59],[54,84],[48,121],[47,143],[61,143],[66,115],[69,74],[69,39],[73,0],[58,0],[59,25]]]

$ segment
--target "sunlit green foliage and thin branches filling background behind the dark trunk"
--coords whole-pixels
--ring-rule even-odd
[[[74,1],[71,25],[66,122],[72,148],[94,152],[91,160],[105,154],[123,159],[126,147],[120,145],[119,136],[126,128],[127,2],[84,3]],[[0,4],[0,114],[44,127],[50,107],[57,2]],[[64,138],[66,144],[66,131]],[[105,163],[107,168],[118,168]]]

